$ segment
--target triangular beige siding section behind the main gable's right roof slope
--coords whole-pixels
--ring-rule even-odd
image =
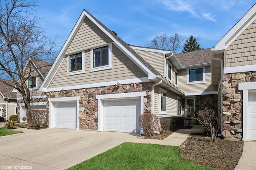
[[[154,67],[160,74],[164,75],[164,55],[149,51],[134,49],[148,64]]]

